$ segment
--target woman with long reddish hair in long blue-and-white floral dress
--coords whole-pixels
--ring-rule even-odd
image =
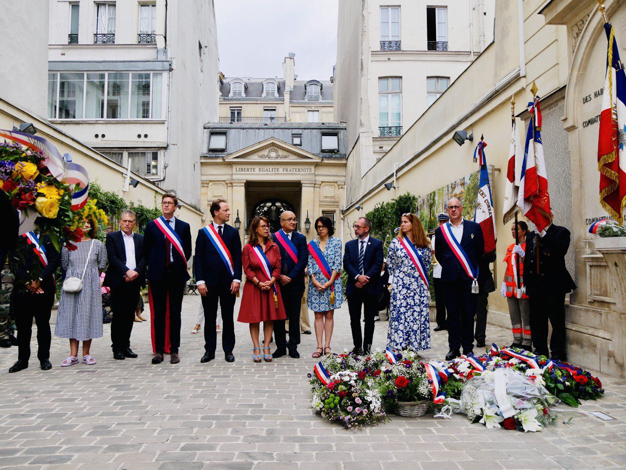
[[[421,351],[430,348],[429,290],[401,239],[413,243],[427,276],[431,267],[430,243],[421,220],[415,214],[403,214],[398,238],[391,242],[387,253],[387,268],[393,276],[387,346]]]

